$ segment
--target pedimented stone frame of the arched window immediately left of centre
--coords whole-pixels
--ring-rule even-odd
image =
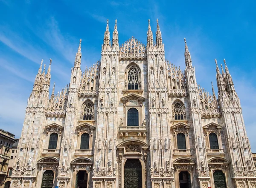
[[[90,125],[87,122],[80,123],[76,127],[76,133],[77,133],[77,148],[75,150],[75,155],[93,155],[93,130],[95,127],[93,125]],[[81,145],[81,135],[87,133],[89,134],[89,149],[80,149]]]

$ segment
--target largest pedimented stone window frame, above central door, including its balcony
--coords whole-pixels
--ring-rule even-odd
[[[147,132],[145,125],[146,120],[145,117],[143,117],[143,102],[145,101],[145,98],[137,94],[129,94],[122,97],[121,101],[123,103],[123,116],[120,119],[119,135],[121,137],[145,137]],[[127,126],[128,110],[130,108],[136,108],[138,110],[139,126]]]

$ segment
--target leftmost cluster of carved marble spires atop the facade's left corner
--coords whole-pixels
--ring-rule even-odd
[[[36,93],[41,93],[41,91],[49,91],[50,86],[50,80],[51,80],[51,64],[52,59],[50,59],[50,64],[47,70],[47,74],[45,75],[45,64],[44,64],[44,70],[42,72],[42,64],[44,60],[41,60],[41,65],[38,69],[38,74],[35,77],[35,83],[33,86],[33,91]]]

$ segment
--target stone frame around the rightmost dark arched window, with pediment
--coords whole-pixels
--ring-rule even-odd
[[[206,147],[207,147],[207,155],[224,155],[224,150],[223,150],[223,145],[221,141],[221,125],[218,125],[217,123],[211,122],[207,125],[203,126],[204,130],[204,136],[206,140]],[[210,148],[210,142],[209,142],[209,134],[210,133],[215,133],[218,138],[218,146],[219,149],[211,149]]]

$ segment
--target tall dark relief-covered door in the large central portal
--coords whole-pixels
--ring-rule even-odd
[[[124,175],[124,188],[142,188],[141,163],[138,159],[127,159]]]

